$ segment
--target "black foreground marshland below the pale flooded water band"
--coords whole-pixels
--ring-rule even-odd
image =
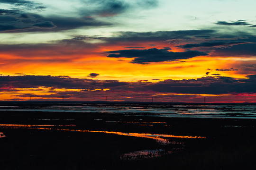
[[[165,137],[176,143],[163,145],[79,130],[206,138]],[[1,111],[0,132],[6,136],[0,138],[0,170],[256,170],[256,119]],[[124,153],[154,149],[173,152],[120,159]]]

